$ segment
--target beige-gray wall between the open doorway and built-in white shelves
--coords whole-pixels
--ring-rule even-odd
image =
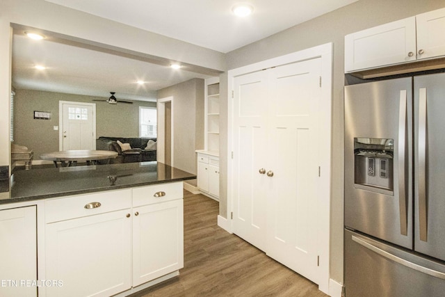
[[[191,79],[158,91],[173,97],[173,166],[196,174],[195,150],[204,148],[204,79]]]

